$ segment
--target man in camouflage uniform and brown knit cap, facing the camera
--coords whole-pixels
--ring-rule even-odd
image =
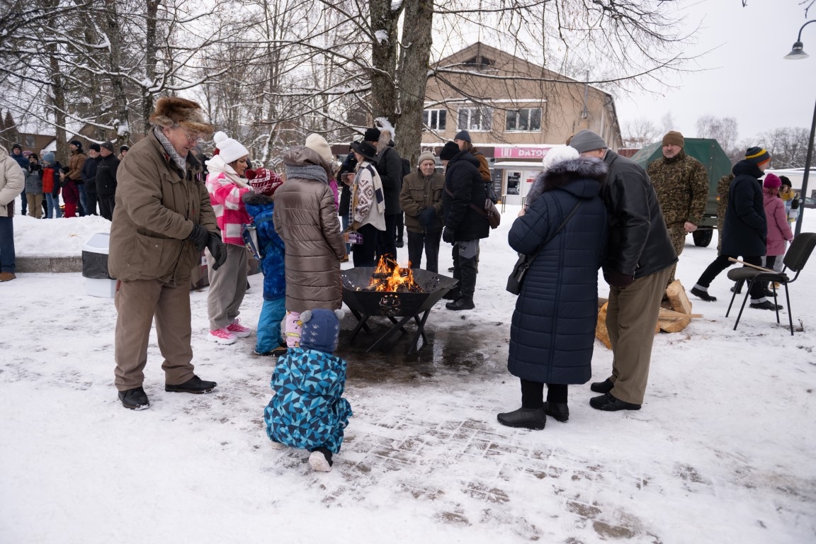
[[[663,136],[663,157],[647,170],[657,192],[663,220],[677,256],[683,252],[685,235],[697,230],[708,199],[708,175],[700,161],[685,154],[683,135],[670,130]],[[668,282],[674,281],[675,263]]]

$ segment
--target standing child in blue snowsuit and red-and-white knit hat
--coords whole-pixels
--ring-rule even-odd
[[[255,225],[258,247],[255,250],[264,273],[264,306],[258,319],[255,353],[264,356],[282,356],[286,342],[281,335],[281,321],[286,316],[286,270],[283,267],[283,241],[275,232],[272,214],[273,195],[283,180],[272,170],[246,170],[252,191],[243,196],[246,211]]]

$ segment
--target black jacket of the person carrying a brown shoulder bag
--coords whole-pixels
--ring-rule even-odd
[[[454,232],[455,241],[477,240],[490,236],[490,223],[470,205],[485,207],[485,182],[479,173],[479,161],[467,151],[460,151],[448,161],[442,209],[445,227]]]

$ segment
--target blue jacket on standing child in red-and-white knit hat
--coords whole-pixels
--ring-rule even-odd
[[[258,250],[264,255],[260,261],[260,270],[264,273],[264,300],[281,299],[286,296],[286,269],[283,267],[283,241],[277,236],[272,221],[275,204],[271,197],[255,192],[247,192],[243,201],[255,223]]]

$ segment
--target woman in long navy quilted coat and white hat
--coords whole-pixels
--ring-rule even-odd
[[[579,205],[530,264],[521,284],[508,356],[510,374],[521,379],[521,408],[498,415],[508,427],[543,429],[547,415],[565,422],[570,417],[567,384],[586,383],[592,376],[598,268],[606,241],[600,197],[606,166],[561,149],[565,147],[548,152],[552,164],[545,159],[527,209],[508,235],[514,250],[532,255]],[[574,158],[564,160],[570,156]]]

